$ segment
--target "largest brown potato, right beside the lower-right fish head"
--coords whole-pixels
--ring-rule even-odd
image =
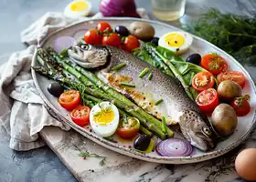
[[[231,135],[238,125],[238,117],[232,106],[220,104],[217,106],[211,116],[211,123],[219,136]]]

